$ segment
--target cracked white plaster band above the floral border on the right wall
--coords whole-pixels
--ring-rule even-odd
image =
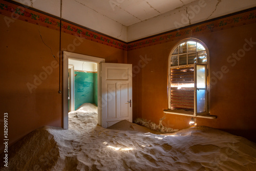
[[[181,3],[183,4],[182,7],[129,26],[127,41],[130,42],[166,31],[176,30],[184,26],[204,22],[207,19],[241,11],[248,9],[249,6],[253,7],[256,5],[256,2],[252,0],[245,0],[243,3],[233,2],[231,0],[199,0],[185,5],[185,1],[180,0],[180,4]],[[230,3],[232,3],[232,5],[230,5]],[[199,5],[201,5],[199,11],[195,12],[195,8],[193,11],[193,7]],[[177,27],[175,22],[180,23],[180,25]],[[147,29],[142,30],[143,28]]]

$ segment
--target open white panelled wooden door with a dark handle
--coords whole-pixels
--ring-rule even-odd
[[[101,126],[133,121],[132,65],[101,63]]]

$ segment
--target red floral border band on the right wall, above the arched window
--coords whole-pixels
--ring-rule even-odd
[[[198,33],[209,33],[252,23],[256,23],[256,10],[251,10],[237,15],[217,19],[212,22],[207,22],[194,27],[189,27],[181,30],[178,29],[170,33],[161,34],[151,38],[131,42],[128,43],[127,50],[134,50],[143,47],[162,44],[164,42],[173,41],[175,39],[181,39],[188,36],[190,37],[191,35],[195,35]]]

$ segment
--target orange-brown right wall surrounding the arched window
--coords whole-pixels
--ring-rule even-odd
[[[192,34],[191,37],[202,40],[210,53],[210,77],[212,72],[221,71],[227,66],[229,72],[223,74],[218,82],[210,87],[210,114],[217,119],[197,118],[198,125],[215,127],[235,135],[244,136],[254,142],[256,137],[256,43],[237,61],[233,67],[227,62],[228,56],[243,49],[245,39],[256,42],[256,24],[234,27],[211,33]],[[189,36],[185,38],[189,38]],[[183,39],[183,38],[182,38]],[[143,118],[159,123],[159,119],[166,127],[183,129],[189,126],[191,117],[164,114],[168,109],[167,69],[170,50],[181,39],[149,46],[127,52],[127,62],[138,66],[141,56],[152,60],[133,79],[133,119]],[[247,45],[246,48],[249,48]]]

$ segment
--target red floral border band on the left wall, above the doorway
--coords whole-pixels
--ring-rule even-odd
[[[67,22],[60,22],[59,19],[56,19],[54,17],[27,9],[23,6],[18,6],[9,2],[5,2],[3,0],[0,0],[0,14],[12,17],[13,19],[23,20],[28,23],[44,26],[54,30],[60,30],[61,25],[61,32],[76,35],[114,48],[127,50],[127,43],[125,42],[118,41],[108,36],[101,35],[92,30],[78,27]]]

